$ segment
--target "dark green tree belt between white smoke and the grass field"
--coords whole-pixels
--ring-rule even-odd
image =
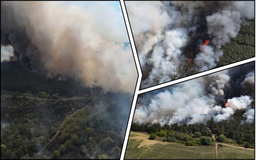
[[[212,145],[211,136],[214,133],[217,134],[218,142],[237,143],[246,148],[254,148],[254,123],[244,123],[243,113],[244,111],[238,110],[229,120],[214,122],[211,119],[207,125],[173,124],[169,126],[166,124],[160,126],[160,124],[133,123],[131,130],[153,133],[152,135],[165,137],[166,142],[181,142],[187,146]]]

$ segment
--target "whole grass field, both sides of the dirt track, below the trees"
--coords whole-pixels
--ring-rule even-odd
[[[214,159],[214,146],[187,147],[179,143],[148,140],[149,135],[131,131],[125,159]],[[218,158],[254,158],[253,150],[218,148]]]

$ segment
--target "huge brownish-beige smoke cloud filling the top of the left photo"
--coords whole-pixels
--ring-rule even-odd
[[[1,2],[1,44],[11,44],[22,64],[47,77],[133,93],[137,70],[122,43],[129,39],[120,18],[108,5]]]

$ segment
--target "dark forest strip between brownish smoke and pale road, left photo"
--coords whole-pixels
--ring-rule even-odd
[[[103,89],[99,86],[86,87],[83,83],[79,84],[71,78],[66,80],[46,78],[44,75],[33,73],[23,66],[1,70],[1,77],[1,89],[10,92],[32,92],[32,94],[37,95],[42,91],[49,95],[58,93],[66,97],[103,94]]]

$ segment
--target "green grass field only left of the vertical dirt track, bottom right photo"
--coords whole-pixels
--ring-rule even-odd
[[[134,133],[131,132],[127,145],[126,159],[151,159],[151,158],[215,158],[213,146],[187,147],[178,143],[157,143],[140,147],[143,140],[134,139]],[[154,141],[154,140],[153,140]],[[188,157],[189,155],[189,157]]]

